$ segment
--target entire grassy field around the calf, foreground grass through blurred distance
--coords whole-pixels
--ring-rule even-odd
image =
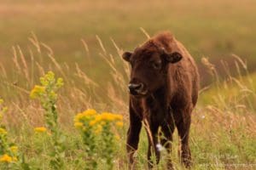
[[[113,168],[127,169],[129,65],[119,56],[123,49],[132,50],[146,40],[140,27],[150,36],[161,30],[172,31],[200,65],[201,94],[190,135],[192,169],[255,168],[256,2],[61,2],[0,3],[0,97],[9,108],[3,124],[10,142],[25,153],[32,169],[50,169],[51,137],[33,130],[45,126],[44,109],[29,98],[47,71],[64,80],[56,105],[66,137],[65,169],[86,167],[83,139],[73,126],[73,117],[89,108],[124,116],[120,140],[113,147]],[[183,169],[177,143],[175,132],[173,163]],[[147,145],[143,131],[137,152],[139,169],[147,166]],[[104,169],[106,162],[99,161],[98,169]],[[1,163],[0,167],[12,169]],[[160,164],[158,169],[164,167]]]

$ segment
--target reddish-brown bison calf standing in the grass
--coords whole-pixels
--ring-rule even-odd
[[[177,127],[181,139],[181,158],[185,167],[191,164],[189,127],[195,107],[199,75],[194,59],[169,32],[163,32],[144,42],[133,53],[125,52],[123,59],[131,64],[130,127],[127,152],[130,168],[139,142],[142,123],[148,133],[148,167],[152,167],[151,150],[160,161],[160,144],[171,151],[172,133]],[[158,139],[158,131],[165,138]],[[170,154],[169,154],[170,155]],[[168,169],[172,169],[170,156]]]

